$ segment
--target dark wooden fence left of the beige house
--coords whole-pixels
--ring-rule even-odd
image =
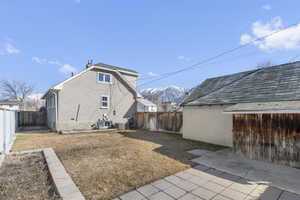
[[[20,111],[18,112],[18,126],[46,126],[47,113],[42,111]]]

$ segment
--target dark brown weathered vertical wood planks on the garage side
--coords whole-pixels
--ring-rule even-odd
[[[233,145],[250,159],[299,168],[300,114],[235,114]]]

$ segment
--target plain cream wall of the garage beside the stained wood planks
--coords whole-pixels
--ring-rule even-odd
[[[212,144],[233,146],[232,115],[224,106],[185,106],[183,137]]]

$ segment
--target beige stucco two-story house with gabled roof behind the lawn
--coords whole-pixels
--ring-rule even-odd
[[[136,113],[138,72],[103,63],[50,88],[46,100],[48,126],[56,131],[128,125]]]

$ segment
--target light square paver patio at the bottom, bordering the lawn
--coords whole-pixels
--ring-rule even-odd
[[[115,200],[300,200],[293,194],[266,183],[251,182],[204,165],[198,165]]]

